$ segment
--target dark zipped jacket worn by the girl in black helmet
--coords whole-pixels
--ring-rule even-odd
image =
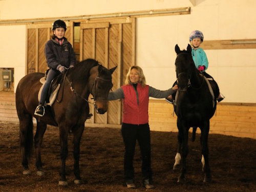
[[[76,55],[70,42],[65,38],[60,45],[55,39],[46,43],[45,55],[48,67],[55,69],[60,64],[65,67],[76,64]]]

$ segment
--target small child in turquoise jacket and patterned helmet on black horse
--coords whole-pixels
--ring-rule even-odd
[[[194,60],[194,63],[196,65],[196,68],[202,73],[206,78],[212,79],[214,83],[216,84],[217,91],[220,92],[219,86],[217,82],[212,78],[209,74],[205,72],[205,70],[208,68],[208,59],[204,52],[204,50],[200,47],[200,44],[204,40],[204,35],[201,31],[195,30],[190,33],[189,35],[189,42],[192,46],[192,57]],[[217,98],[218,102],[221,102],[225,97],[219,93],[219,96]]]

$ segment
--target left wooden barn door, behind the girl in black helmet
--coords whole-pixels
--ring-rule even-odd
[[[67,31],[65,37],[73,45],[73,22],[66,22],[66,25]],[[27,25],[26,74],[34,72],[45,73],[47,69],[45,45],[52,35],[52,23]]]

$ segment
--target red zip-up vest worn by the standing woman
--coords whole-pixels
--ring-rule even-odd
[[[139,97],[139,105],[137,103],[137,95],[133,85],[123,85],[123,117],[122,123],[126,124],[146,124],[148,123],[148,90],[149,86],[142,87],[137,85]]]

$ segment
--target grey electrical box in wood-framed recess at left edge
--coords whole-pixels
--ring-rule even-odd
[[[13,91],[14,68],[0,68],[0,91]]]

